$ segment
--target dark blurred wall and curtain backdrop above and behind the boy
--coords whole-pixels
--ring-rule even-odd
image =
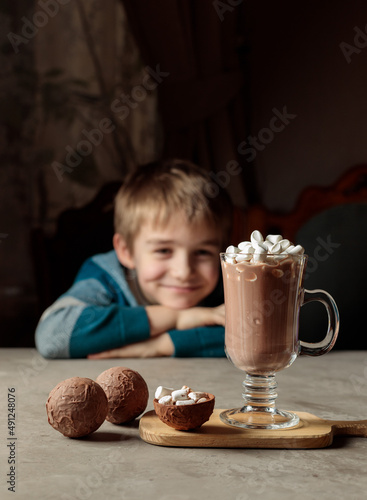
[[[95,207],[64,223],[60,214],[88,205],[135,164],[167,156],[196,161],[228,184],[246,214],[259,204],[291,213],[304,189],[330,186],[366,162],[362,0],[48,5],[46,14],[32,0],[0,6],[2,346],[33,346],[44,287],[59,285],[86,251],[110,244],[111,192],[96,205],[105,218],[95,218]],[[136,89],[147,66],[169,75],[143,98]],[[135,96],[124,121],[111,112],[122,93]],[[274,114],[284,110],[293,118],[269,135]],[[60,182],[54,162],[65,164],[65,147],[75,149],[81,131],[104,118],[115,131]],[[250,141],[251,161],[239,151]],[[238,175],[223,175],[229,162],[238,162]],[[366,221],[357,227],[362,232]]]

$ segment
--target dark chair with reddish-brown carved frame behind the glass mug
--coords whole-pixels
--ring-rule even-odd
[[[367,349],[362,322],[367,301],[367,165],[348,170],[330,187],[310,187],[289,214],[252,207],[237,214],[237,233],[249,239],[254,229],[282,234],[301,244],[309,255],[305,288],[321,288],[335,299],[340,312],[336,349]],[[241,226],[239,226],[239,224]],[[241,238],[239,239],[239,241]],[[300,338],[317,342],[327,328],[322,304],[301,309]]]

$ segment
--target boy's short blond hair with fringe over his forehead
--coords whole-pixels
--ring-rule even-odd
[[[229,241],[232,204],[208,172],[186,160],[140,167],[124,181],[115,199],[115,232],[128,248],[146,221],[162,224],[184,213],[189,223],[215,224],[222,245]]]

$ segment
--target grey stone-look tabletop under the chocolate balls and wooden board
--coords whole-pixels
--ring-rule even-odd
[[[158,385],[211,392],[216,408],[242,404],[244,374],[227,359],[45,360],[34,349],[1,349],[1,500],[366,498],[367,439],[362,437],[335,437],[322,449],[204,449],[147,444],[140,439],[138,420],[121,426],[104,422],[82,439],[55,431],[45,410],[51,389],[74,376],[95,380],[112,366],[144,377],[150,392],[147,411],[153,409]],[[326,419],[367,419],[366,351],[301,357],[277,375],[277,382],[279,408]],[[12,438],[9,389],[15,393]],[[9,474],[15,494],[8,490]]]

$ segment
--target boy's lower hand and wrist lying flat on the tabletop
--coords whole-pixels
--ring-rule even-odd
[[[117,349],[89,354],[88,359],[108,358],[155,358],[160,356],[171,356],[174,352],[173,342],[168,333],[151,337],[142,342],[136,342]]]

